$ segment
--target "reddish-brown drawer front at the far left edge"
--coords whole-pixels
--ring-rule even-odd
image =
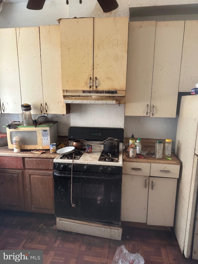
[[[2,169],[23,169],[22,157],[0,157],[0,168]]]

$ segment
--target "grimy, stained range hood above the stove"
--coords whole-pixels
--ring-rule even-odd
[[[64,92],[66,104],[124,104],[125,91],[71,91]]]

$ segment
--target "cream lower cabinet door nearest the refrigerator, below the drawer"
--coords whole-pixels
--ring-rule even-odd
[[[148,225],[173,226],[176,189],[176,178],[149,178]]]

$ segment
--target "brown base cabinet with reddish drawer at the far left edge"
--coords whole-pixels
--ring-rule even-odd
[[[0,208],[24,211],[21,157],[0,157]]]

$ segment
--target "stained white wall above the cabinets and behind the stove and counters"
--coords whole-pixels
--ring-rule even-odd
[[[9,0],[9,2],[12,1],[14,0]],[[16,1],[17,0],[15,0],[15,2]],[[90,5],[89,0],[83,0],[80,5],[78,0],[73,0],[70,1],[68,6],[65,2],[66,0],[46,0],[44,8],[40,11],[28,10],[26,8],[27,1],[4,4],[0,13],[0,28],[57,24],[56,20],[58,18],[68,18],[74,16],[126,16],[129,11],[129,0],[118,0],[118,9],[105,14],[101,12],[97,1],[93,1]],[[142,0],[141,2],[138,0],[131,2],[136,2],[136,4],[143,3],[145,5],[145,2],[150,1]],[[153,4],[156,4],[155,2],[156,1],[153,0]],[[174,3],[173,1],[171,2]],[[176,2],[178,3],[179,0]],[[182,2],[182,0],[180,0],[180,2]],[[31,102],[28,103],[31,104]],[[170,119],[130,116],[124,117],[124,105],[73,104],[71,105],[71,114],[69,115],[48,116],[51,121],[58,121],[59,135],[67,135],[68,128],[72,125],[121,127],[125,129],[125,137],[130,137],[131,133],[134,133],[136,137],[172,138],[173,144],[176,136],[177,117]],[[35,116],[32,117],[33,119],[36,119]],[[4,132],[5,128],[2,126],[13,120],[19,120],[19,115],[0,114],[0,131]]]

